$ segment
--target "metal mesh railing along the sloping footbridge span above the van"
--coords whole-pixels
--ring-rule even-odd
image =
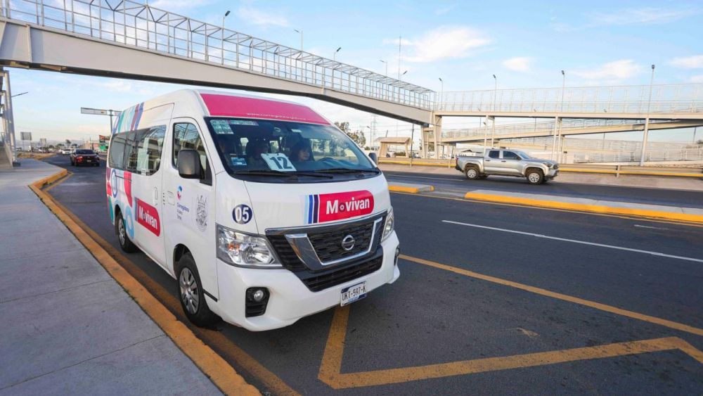
[[[131,0],[0,0],[0,15],[407,106],[434,101],[430,89]]]

